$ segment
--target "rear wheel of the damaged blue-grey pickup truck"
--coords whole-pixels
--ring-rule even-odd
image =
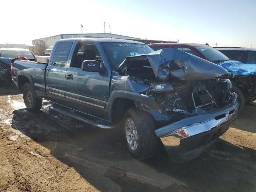
[[[23,100],[29,111],[39,111],[42,107],[43,100],[38,98],[34,90],[32,89],[29,83],[24,84],[22,87],[23,90]]]

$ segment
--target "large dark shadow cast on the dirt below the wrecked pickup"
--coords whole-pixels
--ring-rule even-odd
[[[47,121],[46,121],[47,119]],[[256,191],[255,150],[219,139],[199,158],[174,164],[160,146],[144,162],[128,154],[120,130],[93,128],[45,108],[13,112],[12,127],[48,148],[101,191]]]

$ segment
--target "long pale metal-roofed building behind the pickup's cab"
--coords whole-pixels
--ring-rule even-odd
[[[87,33],[87,34],[80,33],[80,34],[59,34],[59,35],[54,35],[54,36],[50,36],[50,37],[34,39],[34,40],[32,40],[32,44],[50,47],[50,46],[53,46],[57,40],[65,39],[65,38],[80,38],[80,37],[96,37],[96,38],[97,37],[101,37],[101,38],[111,38],[112,37],[112,38],[117,38],[117,39],[127,39],[127,40],[139,41],[139,42],[143,42],[145,44],[177,42],[177,41],[141,39],[141,38],[136,38],[136,37],[130,37],[130,36],[124,36],[124,35],[118,35],[118,34],[110,34],[110,33]]]

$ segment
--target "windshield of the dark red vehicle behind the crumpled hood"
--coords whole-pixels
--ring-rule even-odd
[[[219,52],[213,47],[210,46],[195,46],[195,48],[200,51],[209,61],[211,62],[220,62],[229,60],[224,54]]]

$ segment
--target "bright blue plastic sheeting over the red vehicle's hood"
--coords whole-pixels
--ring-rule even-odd
[[[256,64],[242,63],[240,61],[224,61],[219,64],[225,68],[228,73],[235,75],[255,75],[256,74]]]

